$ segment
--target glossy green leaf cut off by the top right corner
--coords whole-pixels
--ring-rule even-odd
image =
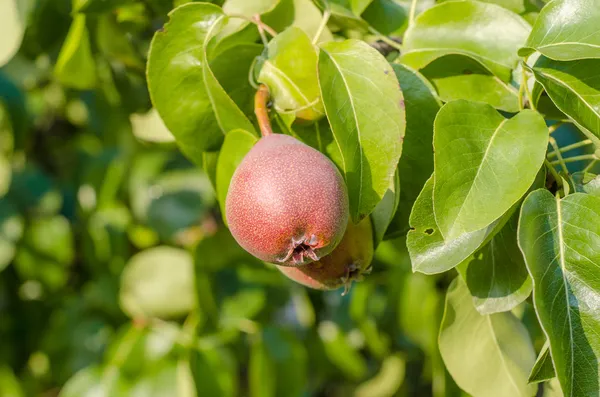
[[[561,61],[600,58],[599,23],[597,0],[554,0],[540,12],[519,55],[537,50]]]

